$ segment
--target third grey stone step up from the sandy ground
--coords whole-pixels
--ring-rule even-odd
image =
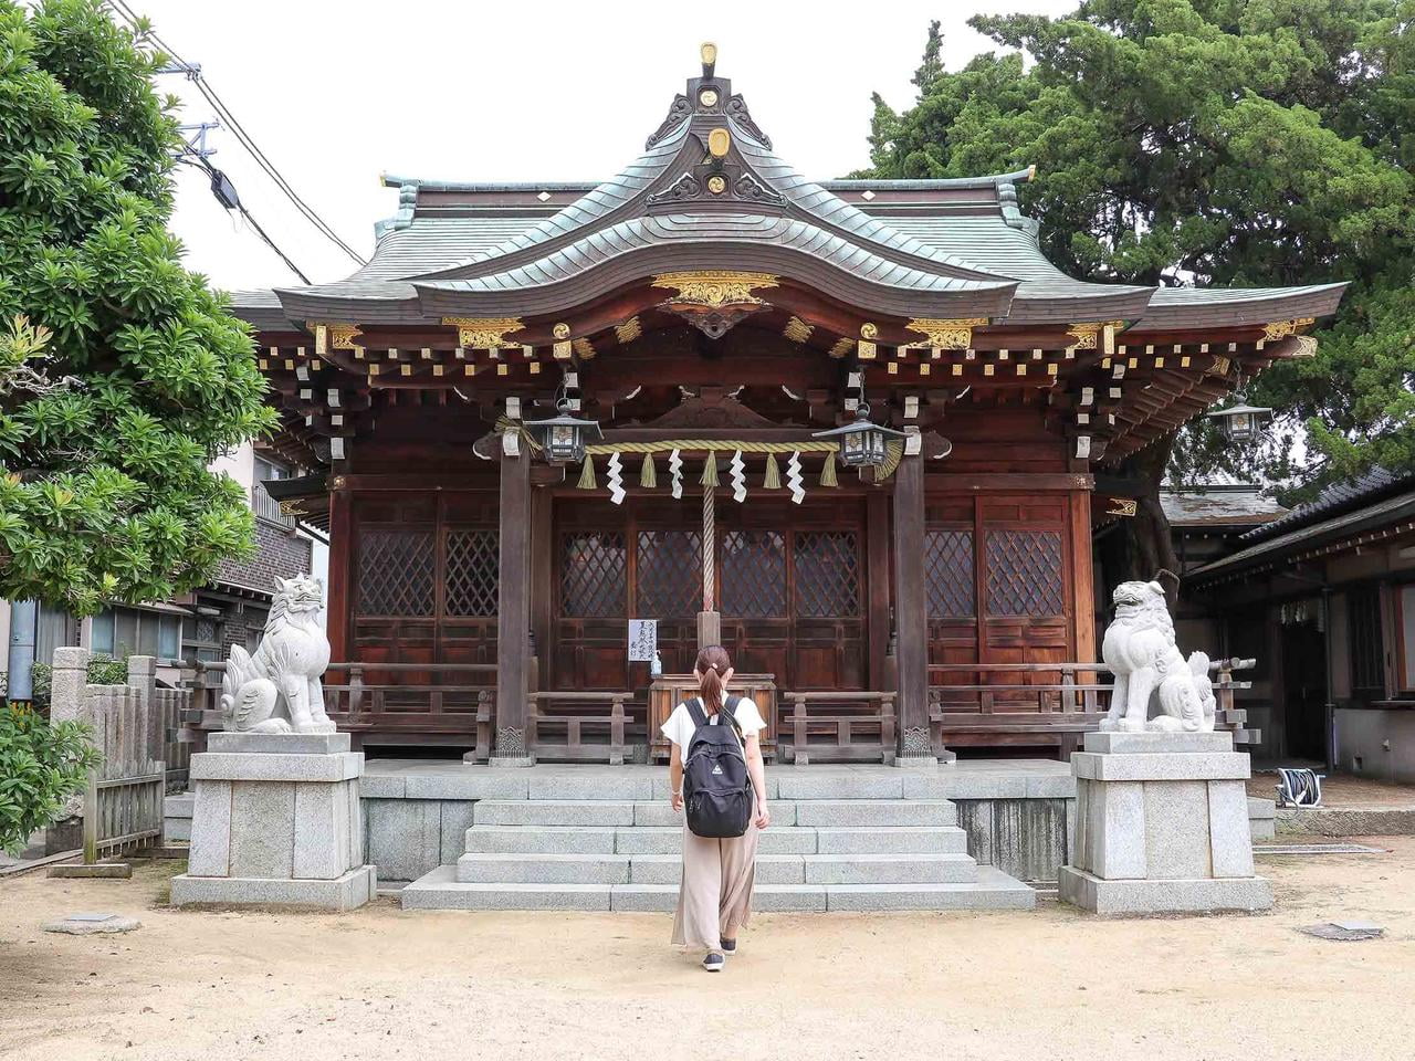
[[[679,854],[681,826],[474,825],[468,854]],[[957,826],[767,829],[760,854],[966,854]]]

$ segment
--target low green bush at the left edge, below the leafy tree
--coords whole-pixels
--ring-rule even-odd
[[[51,726],[27,707],[0,707],[0,850],[18,854],[98,764],[82,723]]]

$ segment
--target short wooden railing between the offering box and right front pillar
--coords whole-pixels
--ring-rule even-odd
[[[862,763],[894,758],[897,719],[893,692],[784,692],[790,705],[787,763]]]

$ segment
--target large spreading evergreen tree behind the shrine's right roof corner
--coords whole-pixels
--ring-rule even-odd
[[[1036,164],[1023,207],[1088,280],[1351,284],[1316,358],[1245,388],[1276,410],[1262,444],[1200,423],[1128,461],[1150,482],[1128,567],[1173,563],[1166,472],[1310,488],[1415,468],[1415,0],[1091,0],[971,25],[1013,51],[940,72],[935,23],[914,106],[874,98],[860,175]]]

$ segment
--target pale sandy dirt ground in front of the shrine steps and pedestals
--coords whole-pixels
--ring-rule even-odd
[[[1266,915],[758,915],[719,976],[655,914],[192,912],[175,863],[0,883],[0,1055],[1409,1058],[1415,839],[1262,859]],[[76,911],[127,935],[38,931]],[[1368,918],[1382,939],[1295,931]]]

